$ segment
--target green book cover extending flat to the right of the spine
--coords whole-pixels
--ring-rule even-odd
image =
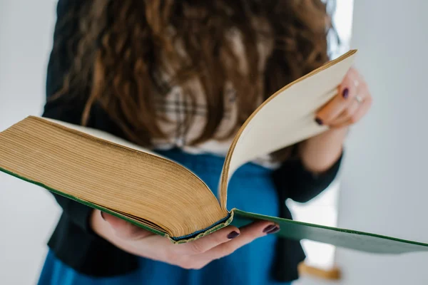
[[[239,209],[233,209],[232,212],[234,212],[235,222],[237,223],[245,223],[245,221],[252,222],[255,220],[275,222],[280,225],[280,232],[278,232],[278,235],[289,239],[310,239],[315,242],[332,244],[336,247],[375,254],[428,252],[428,244],[424,244],[422,242],[412,242],[404,239],[385,237],[378,234],[358,232],[350,229],[324,227],[318,224],[308,224],[292,221],[290,219],[254,214],[241,211]]]

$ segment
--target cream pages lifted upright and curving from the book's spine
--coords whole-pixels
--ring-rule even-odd
[[[349,51],[290,83],[250,115],[225,159],[219,189],[223,209],[226,209],[228,181],[238,167],[327,130],[315,123],[315,113],[337,94],[355,53]]]

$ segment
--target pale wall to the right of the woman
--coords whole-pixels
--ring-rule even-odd
[[[357,0],[352,48],[374,96],[350,135],[339,226],[428,242],[428,1]],[[428,284],[428,254],[337,249],[341,284]]]

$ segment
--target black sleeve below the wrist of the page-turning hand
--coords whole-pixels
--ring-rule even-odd
[[[320,175],[305,169],[301,160],[284,162],[273,173],[273,180],[278,190],[284,192],[282,197],[296,202],[308,202],[324,191],[335,180],[342,162],[342,155],[329,170]]]

